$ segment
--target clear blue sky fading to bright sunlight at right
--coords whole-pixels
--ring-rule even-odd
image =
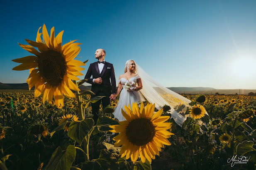
[[[30,55],[18,43],[46,24],[64,30],[63,43],[83,43],[84,75],[103,48],[117,81],[132,59],[166,87],[256,89],[255,9],[255,0],[1,1],[0,82],[26,82],[11,60]]]

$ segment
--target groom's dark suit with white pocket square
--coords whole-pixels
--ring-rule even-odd
[[[90,77],[93,75],[93,78]],[[93,79],[97,79],[98,77],[102,78],[102,83],[97,84],[93,82]],[[87,83],[92,84],[93,93],[95,95],[92,95],[91,97],[96,96],[106,96],[99,100],[96,103],[92,103],[92,113],[93,113],[93,120],[97,121],[98,119],[98,113],[99,113],[99,107],[100,107],[100,101],[102,101],[102,106],[105,108],[107,105],[110,104],[110,95],[113,93],[116,93],[116,80],[115,80],[115,71],[114,67],[111,63],[105,62],[104,67],[102,71],[99,70],[99,64],[98,62],[93,62],[90,64],[88,71],[85,75],[85,79],[87,79]],[[111,79],[111,83],[110,83]]]

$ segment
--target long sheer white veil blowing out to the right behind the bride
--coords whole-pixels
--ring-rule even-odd
[[[186,120],[185,112],[190,107],[191,102],[187,98],[171,91],[170,89],[162,86],[150,77],[144,70],[136,63],[137,73],[141,77],[143,88],[140,90],[142,95],[150,102],[155,103],[155,107],[159,110],[163,105],[171,106],[171,117],[174,121],[182,127],[183,122]]]

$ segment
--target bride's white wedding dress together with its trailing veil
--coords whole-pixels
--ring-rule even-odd
[[[188,108],[191,108],[189,105],[191,101],[162,86],[150,77],[138,64],[136,64],[136,67],[137,76],[130,78],[129,81],[133,80],[137,82],[137,79],[141,78],[143,88],[140,91],[126,91],[125,89],[122,89],[119,102],[113,113],[115,117],[119,121],[125,120],[121,108],[124,109],[124,105],[128,106],[128,104],[132,107],[132,103],[144,101],[144,98],[146,98],[149,103],[155,104],[155,107],[158,110],[163,108],[164,105],[169,105],[171,109],[168,110],[167,113],[171,114],[171,118],[182,127],[183,122],[189,116],[189,114],[185,115],[185,112]],[[120,81],[122,86],[124,86],[128,80],[121,78],[119,82]],[[208,113],[206,114],[208,115]]]

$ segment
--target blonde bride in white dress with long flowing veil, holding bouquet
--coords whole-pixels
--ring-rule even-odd
[[[137,86],[127,87],[127,84],[137,84]],[[121,91],[122,88],[123,90]],[[120,91],[119,102],[113,113],[119,121],[125,120],[121,112],[121,108],[124,110],[124,105],[128,106],[129,104],[132,106],[132,103],[143,102],[145,101],[144,98],[146,98],[149,103],[155,103],[155,107],[158,110],[163,105],[169,105],[171,109],[168,113],[171,113],[171,117],[181,127],[186,119],[184,113],[190,107],[189,103],[191,102],[152,79],[134,60],[127,60],[124,74],[119,76],[116,95]]]

